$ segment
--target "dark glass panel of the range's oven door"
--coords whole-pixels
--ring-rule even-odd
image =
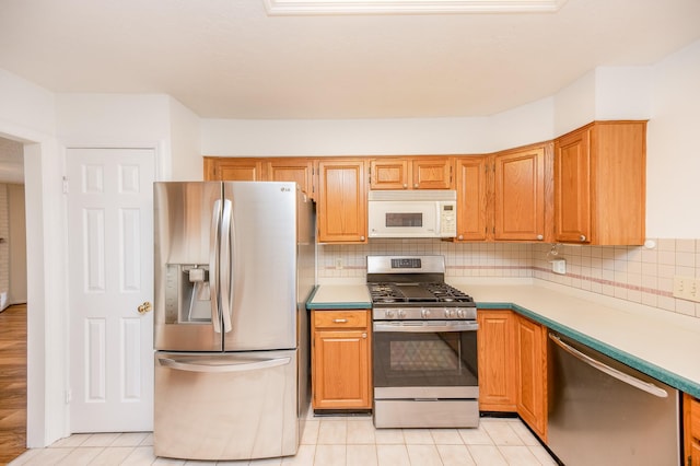
[[[476,331],[374,334],[374,385],[476,386]]]

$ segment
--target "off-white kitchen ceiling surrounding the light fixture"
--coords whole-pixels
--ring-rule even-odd
[[[488,116],[698,38],[698,0],[273,16],[264,0],[0,0],[0,68],[60,93],[165,93],[203,118]]]

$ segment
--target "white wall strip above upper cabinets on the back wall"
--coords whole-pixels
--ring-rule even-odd
[[[487,118],[202,120],[202,154],[390,155],[481,153]]]

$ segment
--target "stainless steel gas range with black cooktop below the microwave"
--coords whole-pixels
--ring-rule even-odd
[[[477,308],[445,283],[443,256],[368,256],[374,426],[479,423]]]

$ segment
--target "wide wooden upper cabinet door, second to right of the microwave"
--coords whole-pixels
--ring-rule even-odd
[[[494,156],[494,240],[545,238],[545,149]]]

